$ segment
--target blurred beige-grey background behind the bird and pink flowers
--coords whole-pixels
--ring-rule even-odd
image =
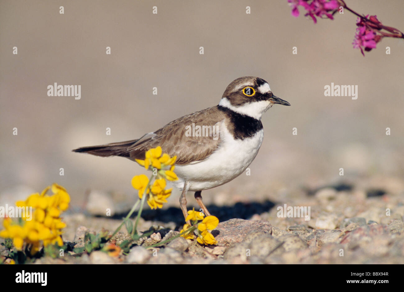
[[[347,5],[404,30],[401,0]],[[385,38],[363,57],[351,44],[356,16],[314,24],[300,10],[292,17],[286,0],[0,1],[0,205],[57,182],[78,210],[97,191],[123,212],[137,193],[130,180],[144,169],[71,150],[139,138],[215,106],[240,76],[267,80],[291,106],[268,110],[251,175],[205,190],[208,204],[363,177],[402,186],[404,40]],[[81,85],[81,99],[47,96],[54,83]],[[358,99],[324,96],[331,83],[358,85]],[[169,206],[178,207],[178,194]]]

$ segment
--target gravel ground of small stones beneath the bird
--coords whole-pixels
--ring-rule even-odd
[[[232,202],[228,195],[221,200],[229,200],[229,205],[208,205],[220,221],[212,231],[217,246],[202,246],[180,237],[164,247],[147,249],[178,234],[183,218],[178,207],[157,212],[146,209],[139,230],[155,232],[140,239],[128,255],[110,257],[98,251],[78,256],[68,252],[63,259],[41,258],[35,263],[402,264],[403,195],[404,182],[391,178],[299,188],[278,201],[267,196],[261,201]],[[278,207],[284,204],[310,207],[310,220],[278,216]],[[67,213],[63,239],[82,246],[85,232],[112,231],[122,216]],[[119,244],[125,239],[128,234],[120,232],[113,241]]]

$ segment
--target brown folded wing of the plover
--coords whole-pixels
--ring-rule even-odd
[[[144,159],[147,150],[161,146],[163,153],[168,153],[171,157],[177,155],[178,165],[203,160],[212,154],[220,143],[218,121],[223,118],[224,115],[217,110],[217,106],[178,118],[154,133],[146,134],[149,137],[142,137],[128,147],[129,157],[132,160]],[[194,133],[192,129],[195,129]]]

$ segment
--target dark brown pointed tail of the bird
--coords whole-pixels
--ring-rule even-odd
[[[135,144],[137,140],[129,140],[124,142],[110,143],[97,146],[80,147],[72,150],[73,152],[84,152],[97,156],[107,157],[107,156],[123,156],[129,157],[128,148]]]

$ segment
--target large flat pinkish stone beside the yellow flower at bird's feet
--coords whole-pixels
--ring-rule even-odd
[[[263,231],[271,234],[272,226],[265,220],[230,219],[220,222],[212,234],[217,240],[217,245],[229,246],[241,242],[252,231]]]

